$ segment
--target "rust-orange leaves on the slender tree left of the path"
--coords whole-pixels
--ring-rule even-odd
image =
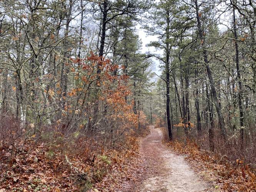
[[[122,121],[124,122],[122,127],[136,127],[138,125],[138,116],[132,110],[133,103],[127,100],[131,95],[129,76],[118,74],[118,71],[122,71],[123,66],[113,64],[109,59],[93,53],[85,59],[77,58],[73,59],[72,62],[72,69],[75,69],[75,79],[79,83],[75,89],[68,92],[67,96],[70,99],[78,96],[78,90],[85,95],[88,94],[90,89],[95,88],[96,83],[96,88],[100,90],[98,102],[106,106],[108,120]],[[84,101],[81,100],[80,104],[84,104]],[[76,106],[76,108],[80,107]]]

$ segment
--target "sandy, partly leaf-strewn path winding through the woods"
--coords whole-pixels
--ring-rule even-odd
[[[141,152],[151,162],[148,165],[153,172],[148,174],[138,192],[198,192],[206,191],[207,183],[200,179],[185,161],[170,151],[162,143],[160,129],[150,127],[150,135],[141,141]]]

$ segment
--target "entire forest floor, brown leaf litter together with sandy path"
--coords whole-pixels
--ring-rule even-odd
[[[255,191],[256,176],[243,162],[236,161],[234,166],[191,143],[183,147],[179,142],[167,142],[165,131],[150,126],[150,133],[145,129],[143,135],[126,142],[130,148],[94,150],[94,162],[88,159],[91,154],[68,156],[62,146],[73,149],[71,144],[50,148],[31,141],[15,158],[2,147],[0,192]]]

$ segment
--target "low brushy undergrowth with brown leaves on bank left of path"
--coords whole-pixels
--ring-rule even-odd
[[[123,141],[115,144],[61,133],[17,140],[15,146],[23,146],[22,150],[2,142],[0,191],[88,191],[111,174],[113,167],[137,154],[138,137],[146,132],[131,129]]]

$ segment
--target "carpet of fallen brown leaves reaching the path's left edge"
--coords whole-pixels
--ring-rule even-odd
[[[5,191],[116,191],[126,182],[134,182],[143,163],[135,136],[115,149],[97,148],[79,151],[68,143],[57,145],[27,141],[21,151],[0,147],[0,192]],[[96,146],[93,141],[87,141]],[[126,144],[127,146],[125,146]],[[53,146],[52,146],[53,145]],[[81,147],[81,146],[80,146]],[[72,151],[73,149],[73,151]],[[72,153],[74,152],[74,153]]]

